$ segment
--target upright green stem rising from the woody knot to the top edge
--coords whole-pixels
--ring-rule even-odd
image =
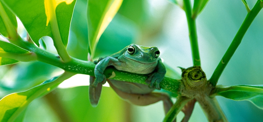
[[[197,41],[196,24],[195,24],[195,18],[192,18],[191,3],[189,0],[183,0],[183,3],[184,3],[184,10],[187,18],[188,29],[189,29],[189,38],[191,43],[193,64],[194,66],[201,66],[198,41]]]

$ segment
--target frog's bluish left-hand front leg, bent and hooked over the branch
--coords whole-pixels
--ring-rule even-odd
[[[106,83],[106,77],[103,74],[104,70],[107,68],[107,66],[112,65],[115,62],[119,62],[118,59],[107,56],[103,59],[101,59],[95,66],[94,74],[95,74],[95,81],[93,84],[91,84],[93,87],[97,87],[98,83],[105,84]]]

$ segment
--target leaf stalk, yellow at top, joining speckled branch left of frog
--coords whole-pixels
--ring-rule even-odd
[[[46,9],[48,11],[48,17],[47,19],[49,19],[50,21],[50,25],[51,25],[51,31],[53,34],[53,42],[54,42],[54,46],[57,49],[57,53],[58,55],[61,57],[61,59],[64,61],[64,63],[67,63],[71,60],[71,57],[69,56],[61,35],[60,35],[60,31],[59,31],[59,27],[57,24],[57,16],[56,16],[56,10],[55,10],[55,6],[54,6],[54,2],[53,0],[45,0],[45,5]]]

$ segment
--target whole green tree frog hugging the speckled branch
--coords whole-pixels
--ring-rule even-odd
[[[124,100],[138,106],[146,106],[160,100],[164,103],[165,113],[172,106],[172,100],[164,93],[152,92],[155,88],[161,89],[159,84],[163,80],[166,70],[157,47],[145,47],[131,44],[121,51],[100,58],[95,66],[94,77],[90,78],[89,98],[92,106],[97,106],[101,94],[102,84],[106,83],[103,74],[107,66],[114,66],[117,70],[136,74],[149,74],[146,83],[138,84],[107,79],[113,90]]]

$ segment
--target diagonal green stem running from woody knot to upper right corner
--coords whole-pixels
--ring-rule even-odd
[[[224,68],[226,67],[229,60],[231,59],[231,57],[235,53],[235,50],[238,48],[239,44],[241,43],[242,38],[244,37],[247,29],[250,27],[251,23],[253,22],[253,20],[257,16],[257,14],[260,12],[262,7],[263,7],[263,3],[261,2],[261,0],[258,0],[256,2],[255,6],[253,7],[253,9],[249,13],[247,13],[246,18],[243,21],[238,32],[236,33],[232,43],[228,47],[223,58],[220,60],[219,64],[217,65],[216,70],[214,71],[213,75],[211,76],[211,78],[209,80],[213,86],[216,86],[218,79],[219,79],[220,75],[222,74]]]

